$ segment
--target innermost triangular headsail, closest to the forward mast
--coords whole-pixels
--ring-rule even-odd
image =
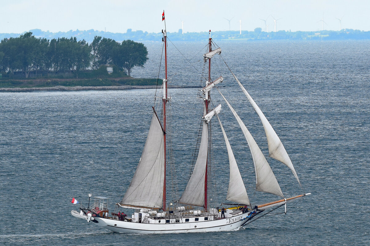
[[[228,150],[228,156],[229,156],[230,179],[229,179],[229,188],[228,188],[228,194],[226,196],[226,200],[238,202],[240,204],[250,205],[248,194],[245,189],[242,176],[240,175],[238,164],[236,164],[234,153],[232,152],[228,137],[226,136],[225,130],[222,127],[220,118],[218,117],[218,115],[216,116],[218,118],[218,122],[220,123],[220,127],[223,133],[223,138],[225,138],[226,148]]]

